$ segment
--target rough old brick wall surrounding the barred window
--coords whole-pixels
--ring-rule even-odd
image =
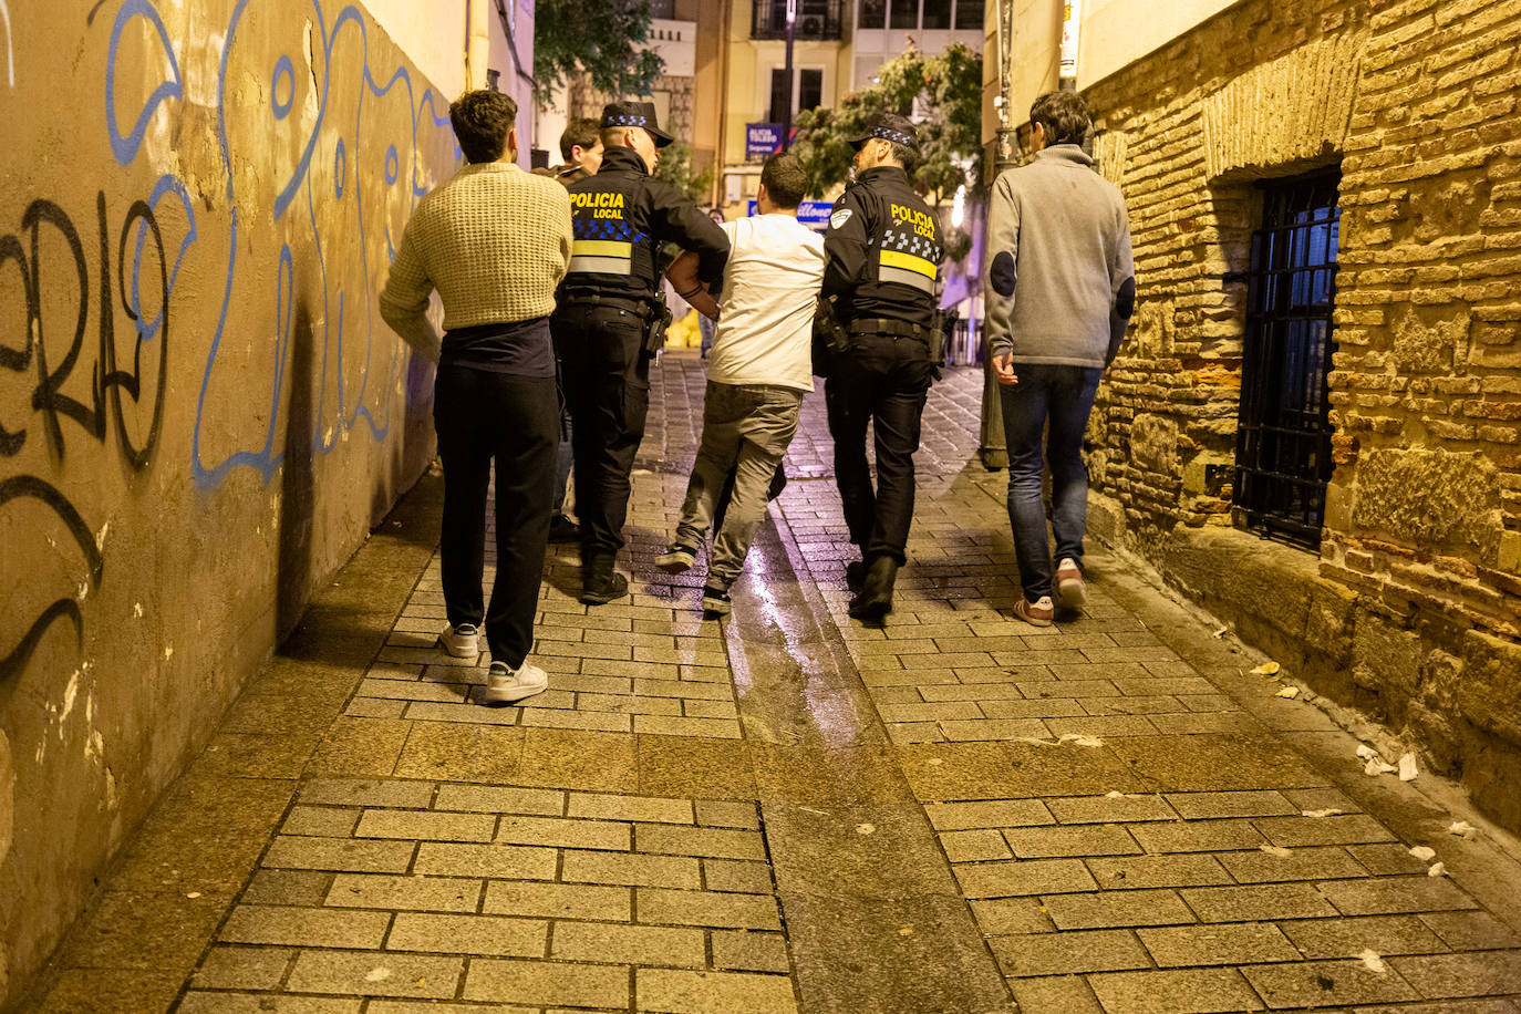
[[[1249,0],[1088,91],[1141,303],[1095,531],[1521,827],[1521,3]],[[1230,529],[1253,185],[1342,169],[1313,553]]]

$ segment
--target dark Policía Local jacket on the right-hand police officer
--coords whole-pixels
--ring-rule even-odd
[[[940,223],[897,166],[867,169],[835,202],[824,234],[826,296],[841,324],[884,318],[931,327]]]

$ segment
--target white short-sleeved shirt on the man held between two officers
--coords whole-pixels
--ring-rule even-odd
[[[707,379],[814,389],[814,301],[824,239],[791,214],[724,222],[729,266]]]

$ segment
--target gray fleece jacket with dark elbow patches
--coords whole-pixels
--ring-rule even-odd
[[[1053,144],[993,182],[987,339],[1016,363],[1107,366],[1135,310],[1130,219],[1077,144]]]

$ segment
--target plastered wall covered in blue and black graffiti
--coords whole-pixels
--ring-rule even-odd
[[[0,123],[3,1005],[430,456],[376,296],[458,152],[324,0],[0,0]]]

